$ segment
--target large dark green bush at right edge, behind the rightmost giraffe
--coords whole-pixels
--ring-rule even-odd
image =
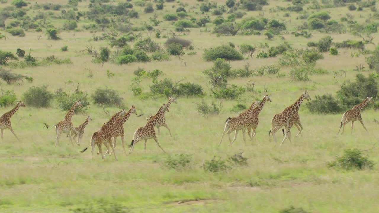
[[[341,85],[341,89],[337,91],[338,97],[342,100],[345,108],[351,108],[367,97],[375,99],[379,92],[377,79],[376,74],[370,74],[368,77],[357,74],[355,82],[345,81]]]

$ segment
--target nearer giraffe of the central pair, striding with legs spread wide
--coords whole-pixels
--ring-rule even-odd
[[[154,139],[155,143],[157,143],[157,145],[161,148],[161,150],[164,153],[166,153],[161,147],[161,145],[159,145],[157,135],[155,134],[155,130],[154,130],[155,124],[159,121],[159,118],[161,116],[164,116],[164,113],[166,113],[166,111],[169,112],[168,106],[163,103],[161,108],[159,108],[157,114],[155,114],[155,116],[153,116],[149,121],[147,121],[147,124],[144,127],[139,127],[136,130],[136,132],[133,135],[132,143],[129,146],[130,147],[129,154],[132,153],[135,144],[141,140],[145,140],[144,150],[146,153],[146,143],[148,139]]]

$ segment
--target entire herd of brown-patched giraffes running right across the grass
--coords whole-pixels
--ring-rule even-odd
[[[300,122],[299,108],[300,108],[300,105],[304,99],[305,100],[311,100],[311,98],[308,94],[308,91],[306,91],[306,90],[301,94],[299,99],[297,99],[292,105],[285,108],[281,113],[275,114],[274,117],[271,119],[271,130],[269,131],[269,135],[271,133],[273,134],[273,138],[274,138],[275,143],[276,143],[275,133],[278,130],[280,130],[280,128],[282,128],[282,127],[284,127],[286,129],[286,131],[284,131],[284,129],[282,129],[284,138],[282,140],[282,143],[280,143],[280,146],[283,144],[283,142],[287,138],[291,142],[291,131],[290,130],[291,130],[291,127],[293,127],[293,125],[295,125],[299,130],[299,133],[296,136],[301,135],[303,127],[302,127],[302,124]],[[260,101],[260,102],[254,101],[252,103],[252,105],[246,111],[240,113],[238,116],[229,117],[226,120],[225,128],[224,128],[224,131],[222,132],[221,141],[219,143],[219,146],[222,143],[222,138],[224,137],[225,133],[227,133],[227,135],[228,135],[229,145],[232,145],[234,143],[234,141],[236,140],[237,134],[240,130],[242,131],[243,140],[244,140],[245,144],[246,144],[246,138],[245,138],[246,129],[247,129],[247,134],[248,134],[249,138],[252,140],[254,138],[254,136],[256,135],[255,131],[258,127],[258,122],[259,122],[258,115],[262,111],[262,109],[263,109],[263,107],[267,101],[272,102],[269,95],[266,94],[263,97],[262,101]],[[342,119],[341,119],[340,129],[338,130],[337,135],[340,133],[341,128],[343,128],[342,133],[344,132],[345,125],[348,124],[349,122],[351,122],[351,133],[352,133],[355,121],[359,121],[362,124],[363,128],[365,128],[365,130],[367,132],[367,129],[366,129],[366,127],[363,123],[363,120],[362,120],[361,110],[363,108],[365,108],[368,103],[373,102],[373,101],[374,100],[372,97],[367,97],[365,100],[363,100],[363,102],[355,105],[351,110],[348,110],[345,113],[343,113]],[[138,143],[139,141],[142,141],[142,140],[144,141],[144,151],[146,152],[147,140],[149,140],[149,139],[154,139],[154,141],[155,141],[155,143],[157,143],[158,147],[160,147],[160,149],[163,152],[165,152],[164,149],[160,146],[160,144],[158,142],[157,134],[155,133],[154,128],[157,127],[158,135],[160,135],[159,128],[162,126],[166,127],[169,131],[170,136],[172,137],[171,130],[168,127],[168,125],[166,124],[166,119],[165,119],[165,113],[169,112],[169,107],[170,107],[171,103],[177,103],[177,101],[174,97],[170,97],[168,100],[168,103],[163,104],[159,108],[157,114],[155,114],[154,116],[148,117],[146,125],[144,125],[143,127],[139,127],[135,131],[135,133],[133,135],[132,142],[128,146],[130,148],[129,154],[132,153],[135,144]],[[4,113],[0,117],[0,129],[1,129],[2,139],[3,139],[3,131],[5,129],[9,129],[13,133],[13,135],[17,138],[17,140],[19,140],[19,138],[17,137],[16,133],[14,133],[14,130],[11,126],[10,118],[16,113],[16,111],[20,107],[25,107],[25,104],[21,101],[18,102],[17,105],[12,110]],[[74,143],[72,142],[72,138],[71,138],[72,136],[74,136],[74,138],[73,138],[74,140],[75,140],[75,138],[77,138],[76,143],[78,145],[80,145],[81,139],[83,138],[83,135],[84,135],[84,130],[85,130],[86,126],[88,125],[89,121],[92,121],[92,118],[90,116],[88,116],[86,118],[85,122],[83,122],[83,124],[79,125],[78,127],[74,127],[72,122],[71,122],[71,119],[72,119],[72,116],[74,114],[75,108],[77,108],[77,107],[81,107],[80,100],[77,100],[72,105],[70,110],[67,112],[66,116],[64,116],[63,121],[60,121],[56,125],[53,125],[53,126],[55,126],[55,133],[56,133],[55,146],[59,143],[59,139],[63,133],[67,133],[67,137],[70,138],[70,142],[72,145],[74,145]],[[120,110],[117,113],[115,113],[109,119],[108,122],[105,122],[97,132],[94,132],[92,134],[91,140],[89,143],[89,145],[91,145],[91,148],[92,148],[91,149],[91,158],[93,158],[93,152],[94,152],[95,146],[97,146],[99,148],[99,152],[97,154],[98,155],[100,154],[102,159],[104,159],[104,157],[107,153],[109,155],[111,155],[111,153],[113,153],[114,159],[117,160],[116,153],[114,152],[114,149],[116,148],[116,140],[117,140],[117,137],[119,137],[119,136],[121,137],[121,144],[122,144],[122,147],[124,149],[124,153],[126,154],[125,145],[124,145],[124,123],[130,118],[130,116],[132,114],[137,115],[136,108],[134,105],[127,112],[125,110]],[[233,140],[231,140],[230,133],[232,133],[234,131],[235,131],[235,135],[234,135]],[[104,155],[102,153],[102,145],[103,144],[107,149]],[[85,152],[88,149],[89,145],[85,149],[81,150],[81,152],[82,153]]]

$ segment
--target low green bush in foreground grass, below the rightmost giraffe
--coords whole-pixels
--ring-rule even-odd
[[[363,156],[359,149],[345,149],[343,156],[337,157],[335,161],[329,162],[328,166],[342,168],[345,170],[371,170],[374,168],[374,161]]]

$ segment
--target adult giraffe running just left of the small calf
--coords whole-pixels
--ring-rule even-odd
[[[79,135],[79,133],[77,132],[77,130],[74,129],[74,126],[72,125],[72,122],[71,122],[71,118],[72,118],[72,115],[74,114],[75,108],[80,107],[80,106],[81,106],[80,100],[77,100],[72,105],[70,110],[67,112],[66,116],[64,116],[63,121],[60,121],[60,122],[58,122],[58,124],[53,125],[53,126],[55,126],[55,133],[56,133],[55,147],[59,143],[59,138],[61,137],[62,133],[64,133],[64,132],[69,133],[70,142],[71,142],[72,146],[74,146],[74,143],[72,143],[70,131],[75,132],[75,134],[77,134],[77,135]],[[79,141],[77,141],[77,144],[79,145]]]

